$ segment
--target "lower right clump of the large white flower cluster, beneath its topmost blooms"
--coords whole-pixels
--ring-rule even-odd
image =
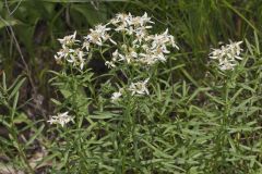
[[[140,38],[134,39],[131,46],[122,45],[121,52],[117,49],[112,53],[112,61],[110,63],[115,65],[116,62],[124,61],[130,64],[133,62],[152,65],[158,61],[165,62],[166,54],[170,53],[167,46],[171,45],[174,48],[179,49],[175,42],[174,36],[168,34],[168,29],[160,35],[139,35]],[[138,44],[136,40],[140,40]],[[112,66],[112,67],[114,67]]]

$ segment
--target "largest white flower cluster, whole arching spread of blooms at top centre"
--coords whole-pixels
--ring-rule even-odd
[[[168,29],[163,34],[150,35],[148,29],[153,27],[153,24],[154,22],[151,21],[147,13],[142,16],[133,16],[130,13],[117,14],[109,23],[91,28],[82,42],[75,39],[76,32],[58,39],[62,48],[57,52],[55,59],[59,63],[66,61],[83,70],[87,61],[85,57],[91,54],[91,50],[95,47],[111,48],[112,46],[105,45],[109,40],[117,47],[111,60],[105,62],[109,69],[121,63],[152,65],[158,61],[164,62],[167,59],[166,55],[170,53],[169,46],[179,48],[174,36],[168,34]],[[118,41],[115,41],[112,39],[114,33],[122,39],[118,37]]]

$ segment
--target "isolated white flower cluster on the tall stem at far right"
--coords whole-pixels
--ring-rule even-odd
[[[219,69],[222,71],[225,70],[234,70],[237,65],[237,60],[242,60],[240,55],[242,49],[240,45],[242,41],[231,42],[226,46],[222,46],[221,49],[213,49],[210,53],[211,59],[216,59],[219,61]]]

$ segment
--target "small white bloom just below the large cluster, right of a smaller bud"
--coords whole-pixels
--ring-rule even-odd
[[[131,83],[129,86],[129,90],[131,91],[131,95],[134,96],[135,94],[141,95],[150,95],[148,89],[146,88],[146,84],[150,78],[146,78],[144,82],[138,82],[138,83]]]

